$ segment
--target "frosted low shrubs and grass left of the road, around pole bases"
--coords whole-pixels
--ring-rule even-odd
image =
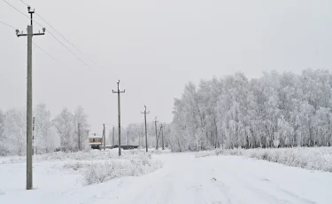
[[[26,160],[25,156],[3,157],[0,164]],[[102,183],[114,177],[141,176],[162,167],[161,161],[152,160],[151,153],[141,150],[122,151],[120,157],[118,149],[34,155],[34,162],[42,161],[66,161],[63,168],[78,170],[85,184]]]

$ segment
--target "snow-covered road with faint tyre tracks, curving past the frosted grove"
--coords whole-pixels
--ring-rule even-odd
[[[130,186],[119,203],[332,203],[331,173],[230,156],[160,158],[166,167]]]

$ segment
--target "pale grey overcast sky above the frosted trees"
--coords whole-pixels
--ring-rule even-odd
[[[27,13],[19,0],[6,0]],[[263,71],[300,73],[332,65],[330,0],[25,0],[76,45],[89,64],[66,51],[50,34],[34,42],[34,104],[55,117],[78,105],[89,114],[91,131],[116,124],[120,79],[121,121],[143,122],[143,106],[162,122],[173,119],[174,98],[184,85],[213,76]],[[4,1],[0,20],[26,30],[29,22]],[[56,35],[35,15],[35,20]],[[40,29],[35,25],[35,32]],[[26,106],[27,40],[0,24],[0,108]],[[66,43],[60,36],[58,39]],[[94,64],[92,60],[97,64]]]

